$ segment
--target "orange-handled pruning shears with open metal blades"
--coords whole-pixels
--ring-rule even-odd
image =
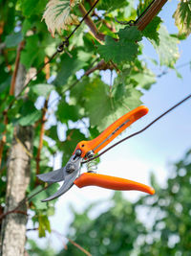
[[[115,123],[106,128],[95,139],[79,142],[65,167],[47,174],[38,175],[38,178],[44,182],[54,183],[64,181],[61,188],[53,196],[42,201],[49,201],[60,197],[71,189],[74,184],[79,188],[93,185],[113,190],[138,190],[153,195],[155,190],[152,187],[133,180],[110,175],[98,175],[91,170],[87,173],[80,174],[83,161],[91,161],[98,151],[106,147],[125,128],[131,126],[147,113],[148,108],[146,106],[138,106],[117,119]]]

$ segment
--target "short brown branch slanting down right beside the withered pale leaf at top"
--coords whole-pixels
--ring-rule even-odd
[[[86,15],[87,11],[85,10],[84,6],[82,4],[79,4],[79,11],[82,13],[83,16]],[[93,20],[91,19],[90,16],[87,16],[85,18],[85,23],[87,24],[87,26],[90,28],[91,32],[93,33],[93,35],[95,35],[96,39],[100,42],[100,41],[104,41],[105,39],[105,35],[102,33],[99,33],[95,23],[93,22]]]

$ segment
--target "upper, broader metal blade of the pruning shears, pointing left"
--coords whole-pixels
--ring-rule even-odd
[[[47,174],[37,175],[37,177],[44,182],[54,183],[54,182],[59,182],[64,180],[64,172],[65,172],[65,167],[62,167],[58,170],[55,170]]]

